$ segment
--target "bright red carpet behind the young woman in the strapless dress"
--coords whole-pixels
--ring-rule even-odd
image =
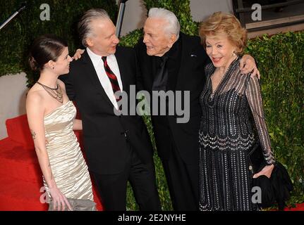
[[[0,210],[47,210],[47,203],[39,200],[42,172],[26,115],[6,120],[6,129],[8,138],[0,141]],[[82,146],[80,132],[75,134]],[[94,186],[93,193],[97,210],[102,210]]]

